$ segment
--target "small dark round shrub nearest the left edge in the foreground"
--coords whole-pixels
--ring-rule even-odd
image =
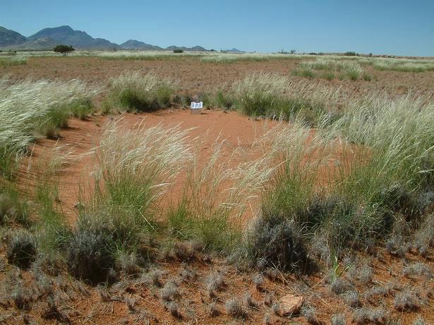
[[[27,231],[12,233],[12,238],[6,249],[6,258],[11,264],[28,269],[35,260],[37,253],[35,238]]]

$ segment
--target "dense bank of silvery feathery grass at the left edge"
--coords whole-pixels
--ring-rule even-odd
[[[3,161],[16,160],[38,137],[57,135],[57,130],[68,124],[68,118],[91,109],[92,97],[97,92],[80,80],[1,78],[0,153]],[[2,168],[7,166],[2,164]]]

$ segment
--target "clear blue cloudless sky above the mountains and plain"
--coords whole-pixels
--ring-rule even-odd
[[[0,26],[168,47],[434,56],[434,0],[0,0]]]

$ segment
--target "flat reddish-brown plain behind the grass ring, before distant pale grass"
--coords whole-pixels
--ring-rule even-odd
[[[179,81],[179,93],[197,96],[217,89],[251,72],[291,75],[301,60],[272,60],[259,62],[206,63],[198,59],[171,59],[163,61],[105,60],[96,57],[31,57],[27,65],[0,69],[0,76],[11,74],[13,78],[78,78],[101,83],[116,77],[124,70],[153,72],[162,77]],[[315,78],[313,83],[341,87],[346,94],[363,94],[370,90],[384,90],[390,95],[433,94],[434,73],[400,73],[374,70],[363,66],[373,80],[325,80]],[[297,77],[294,77],[297,78]]]

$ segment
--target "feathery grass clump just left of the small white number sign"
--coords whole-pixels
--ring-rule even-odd
[[[127,111],[154,111],[169,106],[174,93],[174,82],[152,73],[126,71],[109,80],[109,95],[104,103],[110,109]]]

